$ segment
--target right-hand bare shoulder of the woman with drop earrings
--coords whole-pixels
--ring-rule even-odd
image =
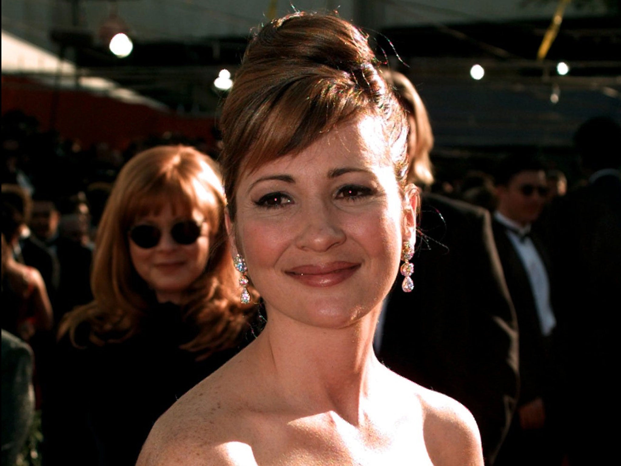
[[[436,391],[420,389],[424,437],[429,457],[438,466],[483,466],[479,427],[470,411]]]

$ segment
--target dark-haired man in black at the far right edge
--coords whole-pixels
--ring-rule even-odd
[[[551,206],[551,250],[566,373],[565,424],[572,466],[612,464],[621,415],[617,332],[621,291],[621,125],[587,120],[574,135],[586,184]]]

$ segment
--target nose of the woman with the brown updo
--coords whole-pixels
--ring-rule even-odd
[[[345,241],[338,209],[326,203],[312,203],[302,209],[298,221],[297,247],[324,252]]]

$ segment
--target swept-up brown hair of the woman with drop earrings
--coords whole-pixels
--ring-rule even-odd
[[[264,25],[235,73],[220,128],[229,215],[238,178],[295,155],[356,117],[376,117],[402,188],[407,176],[407,120],[379,70],[368,38],[336,13],[298,12]]]

